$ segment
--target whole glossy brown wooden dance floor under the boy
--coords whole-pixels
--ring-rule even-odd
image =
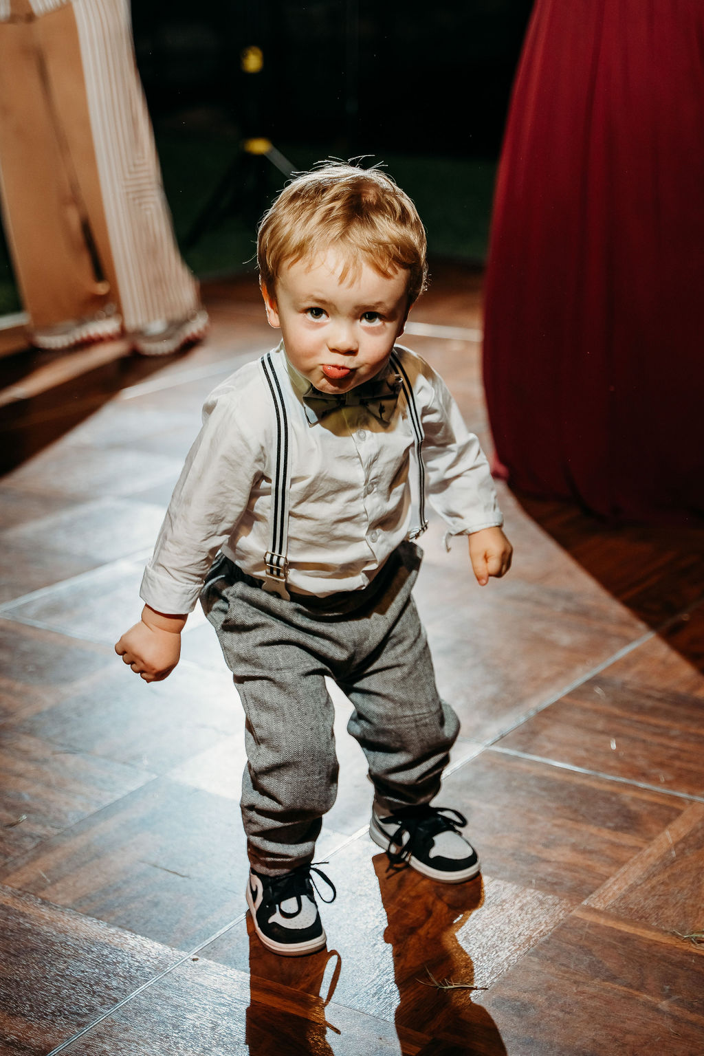
[[[488,442],[480,277],[435,270],[406,341]],[[481,590],[434,522],[417,599],[462,720],[438,802],[482,876],[386,874],[338,695],[328,950],[252,938],[214,635],[189,622],[151,686],[112,648],[203,398],[273,343],[251,279],[205,295],[211,336],[176,358],[0,360],[0,1053],[704,1053],[702,532],[501,488],[515,565]]]

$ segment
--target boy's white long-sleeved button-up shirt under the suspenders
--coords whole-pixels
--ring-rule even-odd
[[[444,382],[420,356],[397,346],[413,388],[424,440],[425,489],[451,534],[503,518],[479,441]],[[414,434],[405,401],[387,422],[364,406],[310,421],[309,382],[283,357],[290,383],[291,476],[288,585],[319,597],[372,582],[411,528]],[[218,549],[264,580],[269,547],[277,425],[259,361],[241,367],[206,400],[203,429],[169,505],[141,584],[152,608],[190,612]]]

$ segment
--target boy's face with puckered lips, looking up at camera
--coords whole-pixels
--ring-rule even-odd
[[[349,392],[379,374],[408,315],[406,271],[387,279],[363,263],[342,282],[342,267],[329,250],[284,268],[274,297],[262,288],[290,362],[324,393]]]

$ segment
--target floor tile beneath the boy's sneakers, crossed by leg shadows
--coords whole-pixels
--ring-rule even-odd
[[[452,1035],[472,1021],[465,1005],[473,994],[493,985],[571,909],[565,900],[488,873],[458,885],[413,870],[388,873],[368,836],[323,868],[337,888],[335,902],[321,909],[327,951],[279,958],[243,922],[204,956],[315,997],[324,992],[326,965],[336,957],[336,1001],[398,1026]],[[448,980],[477,991],[436,985]]]

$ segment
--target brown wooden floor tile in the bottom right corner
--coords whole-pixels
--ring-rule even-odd
[[[516,1056],[695,1056],[704,1036],[703,995],[701,950],[585,908],[477,1001]]]

